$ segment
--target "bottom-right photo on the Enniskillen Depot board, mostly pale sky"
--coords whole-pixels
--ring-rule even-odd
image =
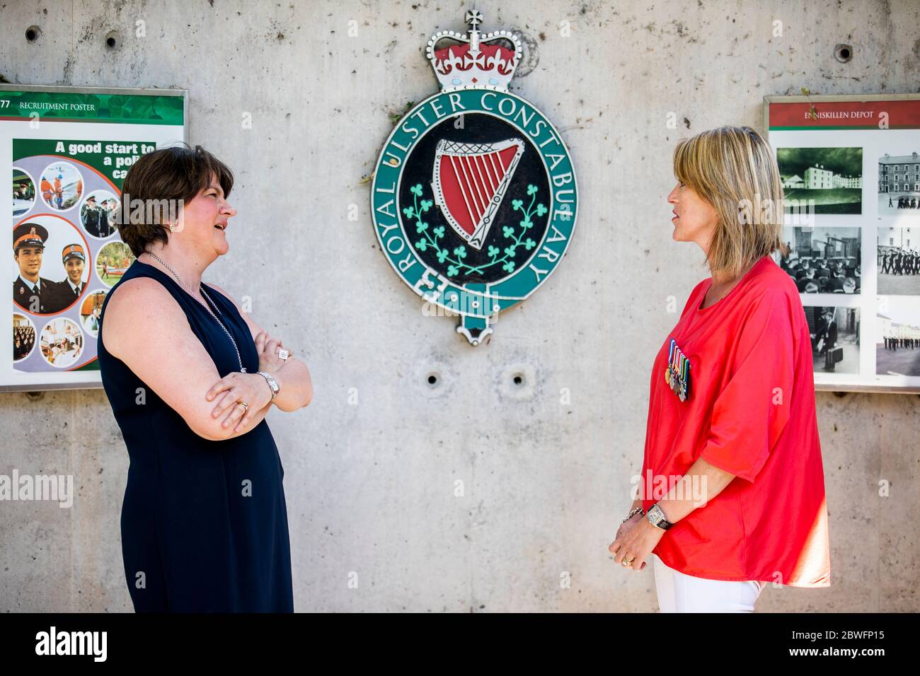
[[[879,336],[875,372],[879,375],[920,375],[920,304],[916,298],[879,299]]]

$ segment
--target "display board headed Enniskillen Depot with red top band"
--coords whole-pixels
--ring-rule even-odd
[[[766,97],[817,389],[920,392],[920,96]]]

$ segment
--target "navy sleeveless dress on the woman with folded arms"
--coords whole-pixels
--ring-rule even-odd
[[[109,291],[99,317],[98,359],[131,460],[121,508],[121,553],[134,610],[293,613],[284,468],[268,423],[263,419],[235,439],[203,439],[105,349],[106,304],[121,283],[135,277],[153,278],[167,288],[221,377],[239,371],[224,330],[172,275],[135,260]],[[259,371],[259,353],[236,305],[201,286],[233,333],[247,372]],[[210,385],[196,384],[202,397]]]

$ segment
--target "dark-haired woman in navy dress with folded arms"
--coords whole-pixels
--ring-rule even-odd
[[[201,281],[229,250],[233,174],[200,145],[143,155],[122,200],[136,257],[99,317],[131,458],[121,510],[137,612],[293,612],[284,470],[265,416],[313,397],[303,361]]]

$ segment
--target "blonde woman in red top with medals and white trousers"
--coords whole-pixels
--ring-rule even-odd
[[[830,585],[811,338],[776,159],[750,127],[677,144],[673,234],[706,255],[651,372],[638,498],[609,551],[654,556],[662,613],[753,612],[767,582]]]

